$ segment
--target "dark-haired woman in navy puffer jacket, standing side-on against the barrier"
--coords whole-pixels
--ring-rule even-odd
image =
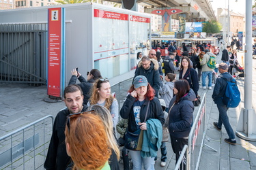
[[[188,145],[188,135],[193,123],[195,92],[190,89],[186,80],[177,80],[174,82],[173,93],[175,96],[169,104],[169,133],[177,163],[184,145]],[[186,159],[182,160],[180,169],[186,169]]]

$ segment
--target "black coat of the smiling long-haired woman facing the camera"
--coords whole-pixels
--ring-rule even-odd
[[[184,74],[183,78],[182,78],[182,72],[183,72],[183,69],[180,71],[179,80],[181,80],[181,79],[187,80],[188,84],[189,84],[189,87],[194,90],[195,95],[197,97],[197,92],[198,92],[198,89],[199,89],[197,71],[195,71],[195,69],[193,69],[193,68],[188,68],[186,70],[186,73]]]

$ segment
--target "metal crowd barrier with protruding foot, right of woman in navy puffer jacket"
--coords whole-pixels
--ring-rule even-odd
[[[203,146],[207,146],[214,150],[214,148],[206,145],[204,143],[206,126],[205,126],[205,115],[206,113],[206,97],[205,94],[201,100],[201,105],[199,106],[199,110],[197,112],[197,116],[195,121],[193,122],[193,126],[190,130],[188,136],[188,149],[186,152],[186,169],[199,169],[199,163],[201,159],[201,152],[203,150]],[[217,152],[217,150],[214,150]]]

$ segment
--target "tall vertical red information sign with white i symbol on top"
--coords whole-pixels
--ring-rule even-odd
[[[61,7],[48,9],[47,95],[61,97]]]

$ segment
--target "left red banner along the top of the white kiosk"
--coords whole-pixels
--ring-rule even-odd
[[[128,20],[128,14],[121,14],[117,12],[110,12],[98,9],[94,9],[94,17],[109,18],[116,20]]]

